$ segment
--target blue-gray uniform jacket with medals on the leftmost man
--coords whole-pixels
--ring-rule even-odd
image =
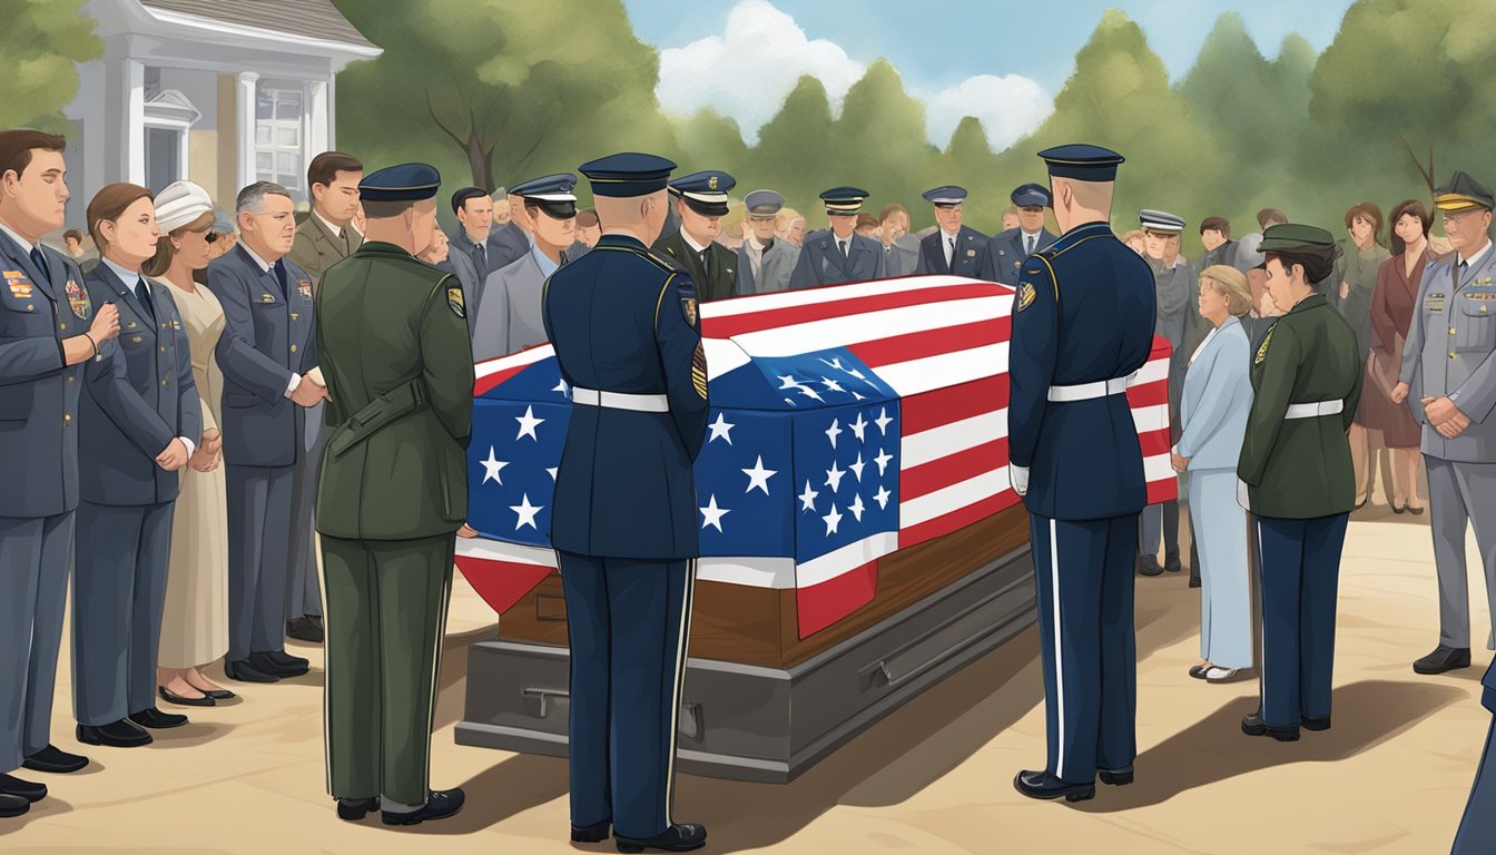
[[[7,485],[0,490],[0,517],[55,517],[78,508],[78,394],[87,362],[64,365],[61,340],[87,332],[99,307],[69,299],[67,283],[84,283],[72,259],[51,247],[42,255],[45,277],[0,232],[0,484]],[[105,358],[115,346],[103,344]]]

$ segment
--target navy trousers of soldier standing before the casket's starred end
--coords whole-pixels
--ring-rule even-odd
[[[624,837],[651,837],[672,822],[696,562],[557,557],[571,645],[571,822],[612,819]],[[630,668],[645,662],[660,668]],[[649,722],[658,729],[639,726]],[[615,744],[615,732],[631,737]]]

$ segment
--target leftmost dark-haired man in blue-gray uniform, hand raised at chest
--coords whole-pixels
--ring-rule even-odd
[[[78,508],[78,397],[84,365],[114,347],[120,314],[93,305],[82,271],[43,247],[63,226],[66,141],[0,132],[0,818],[46,788],[16,767],[72,773],[88,758],[51,744],[57,651]],[[61,425],[61,430],[58,430]]]

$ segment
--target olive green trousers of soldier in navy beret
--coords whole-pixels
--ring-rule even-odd
[[[452,535],[416,541],[322,536],[326,716],[378,717],[374,726],[328,729],[329,786],[340,798],[426,803],[455,551]],[[347,708],[335,708],[343,704]]]

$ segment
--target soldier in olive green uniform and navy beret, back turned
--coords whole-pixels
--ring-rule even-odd
[[[317,290],[328,783],[338,816],[383,807],[386,825],[452,816],[464,800],[428,783],[473,422],[462,283],[414,258],[440,183],[423,163],[365,177],[365,243]]]

